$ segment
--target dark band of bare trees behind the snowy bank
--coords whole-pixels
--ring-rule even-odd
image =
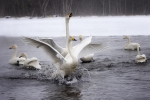
[[[0,0],[4,16],[74,16],[148,15],[150,0]]]

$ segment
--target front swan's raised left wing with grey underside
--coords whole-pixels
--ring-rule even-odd
[[[54,63],[61,62],[62,60],[65,61],[65,58],[57,50],[55,50],[52,46],[43,41],[28,37],[22,37],[22,41],[34,47],[38,47],[39,45],[41,45],[41,49]]]

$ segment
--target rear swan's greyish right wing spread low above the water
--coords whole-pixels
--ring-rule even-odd
[[[88,44],[79,53],[79,58],[87,56],[88,54],[98,53],[105,51],[109,46],[107,44]]]

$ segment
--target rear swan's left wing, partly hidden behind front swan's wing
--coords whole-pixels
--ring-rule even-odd
[[[57,43],[54,42],[54,40],[52,38],[42,38],[39,39],[40,41],[43,41],[45,43],[48,43],[49,45],[51,45],[54,49],[56,49],[59,53],[63,52],[63,48],[60,47]]]

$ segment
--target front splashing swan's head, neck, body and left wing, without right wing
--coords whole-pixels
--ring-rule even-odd
[[[69,53],[64,58],[57,50],[55,50],[51,45],[39,41],[36,39],[24,37],[22,38],[25,43],[28,43],[32,46],[41,46],[41,49],[48,55],[51,61],[55,64],[56,70],[52,74],[52,78],[56,78],[57,76],[61,76],[63,79],[70,75],[78,65],[78,59],[73,54],[71,49],[71,41],[76,41],[75,38],[69,36],[67,41],[68,43],[68,51]]]

